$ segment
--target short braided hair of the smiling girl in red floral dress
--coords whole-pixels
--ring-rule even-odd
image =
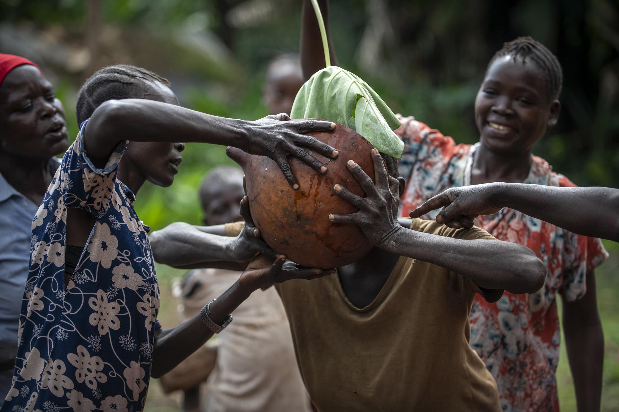
[[[503,43],[503,48],[495,53],[490,59],[486,73],[492,63],[503,56],[512,56],[514,62],[517,58],[520,58],[522,64],[526,64],[526,59],[537,64],[546,74],[546,91],[548,94],[548,101],[555,100],[561,94],[561,88],[563,87],[563,69],[561,64],[552,51],[539,41],[533,40],[531,37],[517,37],[515,40]]]

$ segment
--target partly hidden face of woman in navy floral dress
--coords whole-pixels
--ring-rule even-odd
[[[143,95],[139,98],[178,106],[178,98],[169,87],[159,82],[145,83]],[[131,142],[123,156],[121,168],[130,167],[152,184],[168,187],[178,173],[184,148],[181,142]]]

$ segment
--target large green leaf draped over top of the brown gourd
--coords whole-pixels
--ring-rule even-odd
[[[290,117],[324,119],[350,127],[381,153],[402,156],[404,143],[393,132],[400,121],[357,75],[337,66],[314,73],[297,93]]]

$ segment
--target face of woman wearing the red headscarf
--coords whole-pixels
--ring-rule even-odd
[[[69,147],[63,103],[40,70],[15,67],[0,85],[0,150],[46,160]]]

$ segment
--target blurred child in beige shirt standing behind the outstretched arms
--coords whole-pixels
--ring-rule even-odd
[[[223,225],[241,220],[243,171],[219,167],[202,180],[200,202],[204,225]],[[156,256],[155,256],[156,257]],[[225,269],[192,270],[180,293],[180,317],[185,321],[216,298],[240,272]],[[216,366],[201,390],[185,392],[186,411],[209,412],[304,412],[309,398],[298,371],[290,327],[275,288],[256,291],[233,313],[235,321],[206,350],[216,353]],[[197,351],[171,373],[191,374],[193,367],[212,354]],[[189,368],[189,369],[188,369]],[[185,371],[185,369],[188,369]],[[165,379],[166,376],[162,377]],[[201,393],[200,393],[201,392]]]

